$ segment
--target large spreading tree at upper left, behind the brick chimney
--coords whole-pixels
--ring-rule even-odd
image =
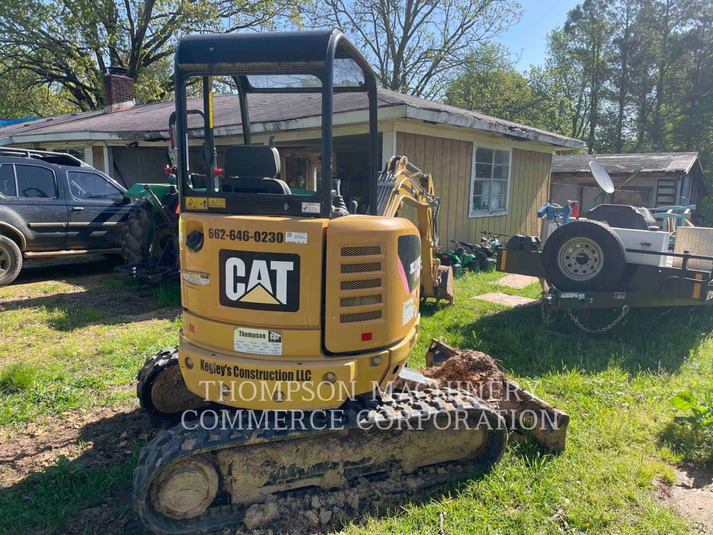
[[[300,10],[287,0],[4,0],[0,78],[24,71],[90,110],[103,104],[108,67],[122,66],[140,98],[163,98],[181,34],[269,28],[299,21]]]

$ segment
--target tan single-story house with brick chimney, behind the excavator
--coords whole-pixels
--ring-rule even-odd
[[[114,86],[116,85],[116,91]],[[169,144],[168,120],[173,102],[133,104],[130,78],[111,73],[105,80],[108,98],[102,111],[37,118],[0,128],[0,145],[72,151],[84,161],[130,186],[165,182]],[[538,233],[536,211],[550,190],[553,151],[578,149],[582,141],[538,128],[503,121],[453,106],[379,89],[381,162],[407,156],[434,176],[441,198],[439,235],[448,240],[477,242],[482,230],[496,233]],[[282,158],[282,176],[289,185],[317,180],[321,99],[312,93],[251,93],[252,143],[272,143]],[[202,99],[188,101],[202,108]],[[213,99],[217,163],[225,148],[242,143],[237,95]],[[334,96],[334,174],[366,173],[366,96]],[[189,116],[191,168],[200,169],[202,123]],[[274,136],[274,137],[273,137]],[[404,208],[402,215],[415,217]]]

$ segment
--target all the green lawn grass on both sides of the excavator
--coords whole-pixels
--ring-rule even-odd
[[[610,332],[587,335],[561,315],[543,325],[538,307],[508,310],[473,300],[498,290],[538,296],[537,285],[513,291],[498,287],[499,277],[466,275],[456,281],[453,307],[422,306],[410,365],[424,365],[431,337],[488,352],[509,377],[570,414],[567,448],[549,454],[513,442],[486,474],[374,511],[366,525],[344,532],[433,534],[443,514],[448,534],[690,533],[655,486],[673,481],[674,463],[713,462],[709,439],[677,427],[668,402],[713,373],[711,310],[634,311]],[[175,302],[178,290],[153,290],[151,298],[158,309]],[[74,312],[93,319],[73,320]],[[168,319],[117,326],[111,311],[95,313],[53,307],[0,313],[0,349],[29,355],[24,367],[0,372],[1,426],[128,402],[143,355],[175,343],[180,325]],[[590,321],[604,325],[610,317],[600,312]],[[62,533],[69,519],[107,503],[117,521],[130,518],[125,496],[139,447],[111,465],[61,460],[1,490],[0,532],[42,526]],[[93,530],[88,520],[86,531]]]

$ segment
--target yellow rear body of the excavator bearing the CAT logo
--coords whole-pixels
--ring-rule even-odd
[[[183,213],[179,239],[179,364],[194,394],[245,409],[331,409],[406,365],[421,292],[408,220]]]

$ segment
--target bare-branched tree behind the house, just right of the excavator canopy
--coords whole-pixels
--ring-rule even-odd
[[[515,0],[322,0],[312,12],[312,24],[349,35],[382,87],[424,98],[519,19]]]

